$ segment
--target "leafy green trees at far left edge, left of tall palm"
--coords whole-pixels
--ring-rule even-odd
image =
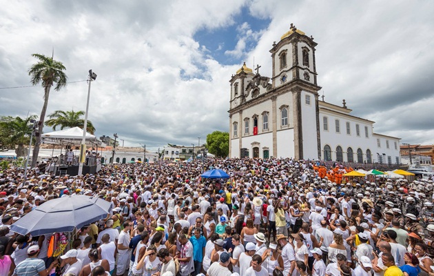
[[[29,144],[32,135],[32,123],[36,115],[22,119],[21,117],[2,117],[0,119],[0,132],[6,148],[14,148],[17,157],[24,157],[27,152],[24,145]]]

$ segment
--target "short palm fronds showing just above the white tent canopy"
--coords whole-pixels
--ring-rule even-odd
[[[85,112],[82,110],[77,112],[74,112],[74,110],[56,110],[48,115],[50,119],[45,121],[45,126],[51,126],[53,130],[56,130],[57,126],[60,126],[61,130],[63,130],[63,128],[74,128],[76,126],[84,129],[84,119],[80,118],[83,115],[85,115]],[[86,131],[94,134],[95,128],[91,121],[87,121]]]

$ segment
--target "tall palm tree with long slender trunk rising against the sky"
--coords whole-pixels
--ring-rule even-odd
[[[64,70],[66,70],[65,66],[61,61],[56,61],[53,57],[45,57],[44,55],[33,54],[32,57],[35,57],[39,61],[34,63],[32,67],[30,67],[28,74],[30,76],[30,82],[32,85],[36,86],[39,83],[42,83],[43,87],[43,106],[41,110],[41,116],[39,116],[39,121],[41,124],[39,125],[39,135],[36,137],[36,142],[34,143],[33,155],[32,155],[32,168],[36,166],[36,162],[39,155],[39,146],[41,145],[41,134],[43,129],[43,121],[45,119],[45,112],[47,112],[48,106],[48,97],[50,96],[51,86],[56,83],[54,86],[54,90],[59,91],[61,88],[66,86],[66,82],[68,81],[68,77],[66,76]]]

